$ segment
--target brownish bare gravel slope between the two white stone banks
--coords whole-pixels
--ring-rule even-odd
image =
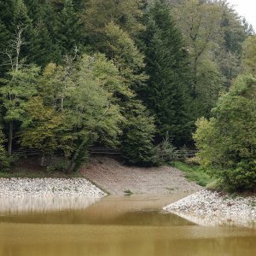
[[[80,171],[84,177],[111,195],[124,195],[125,190],[133,194],[163,195],[193,193],[201,189],[201,186],[187,181],[183,172],[170,166],[124,166],[117,160],[94,157]]]

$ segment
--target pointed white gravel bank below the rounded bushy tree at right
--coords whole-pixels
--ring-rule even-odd
[[[203,189],[164,210],[205,226],[236,225],[256,227],[256,197],[230,197]]]

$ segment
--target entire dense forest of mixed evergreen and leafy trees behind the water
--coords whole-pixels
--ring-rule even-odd
[[[0,165],[119,148],[158,166],[200,149],[218,183],[256,183],[256,37],[227,1],[0,0]]]

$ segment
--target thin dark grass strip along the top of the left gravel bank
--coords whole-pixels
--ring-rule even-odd
[[[23,169],[23,168],[15,168],[10,172],[1,172],[0,177],[28,177],[28,178],[35,178],[35,177],[62,177],[62,178],[70,178],[70,177],[83,177],[79,172],[73,172],[70,174],[65,174],[63,172],[47,172],[44,170],[31,170],[31,169]]]

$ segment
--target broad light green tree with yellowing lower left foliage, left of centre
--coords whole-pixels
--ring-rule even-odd
[[[91,144],[114,147],[119,143],[125,119],[114,95],[130,92],[113,61],[104,55],[83,55],[63,67],[49,64],[39,79],[38,93],[26,108],[22,146],[38,148],[44,154],[61,149],[66,158],[72,158],[70,168],[77,169],[88,158]]]

